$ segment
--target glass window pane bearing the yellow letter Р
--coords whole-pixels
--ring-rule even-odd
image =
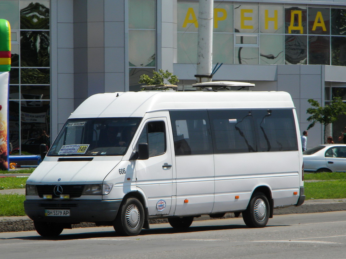
[[[214,32],[233,32],[233,5],[214,3]]]

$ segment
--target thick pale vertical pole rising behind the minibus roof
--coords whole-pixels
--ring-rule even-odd
[[[213,46],[213,0],[199,0],[197,83],[211,81]]]

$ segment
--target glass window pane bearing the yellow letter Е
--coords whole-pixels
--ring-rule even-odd
[[[234,32],[258,32],[258,6],[234,4]]]

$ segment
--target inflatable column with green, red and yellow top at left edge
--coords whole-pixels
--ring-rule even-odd
[[[0,170],[8,170],[8,83],[11,69],[11,28],[0,19]]]

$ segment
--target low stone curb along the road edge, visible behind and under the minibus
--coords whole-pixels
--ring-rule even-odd
[[[274,209],[274,215],[285,215],[285,214],[301,214],[301,213],[315,213],[315,212],[327,212],[327,211],[344,211],[346,210],[346,199],[327,199],[327,200],[308,200],[305,201],[301,206],[286,207]],[[241,217],[241,216],[240,216]],[[234,218],[234,213],[226,213],[222,218],[227,219]],[[203,215],[197,220],[211,220],[208,215]],[[167,219],[154,219],[150,220],[150,224],[167,223]],[[85,228],[85,227],[96,227],[95,223],[80,223],[72,225],[72,228]],[[28,217],[3,217],[0,218],[0,232],[17,232],[17,231],[32,231],[35,230],[34,223]]]

